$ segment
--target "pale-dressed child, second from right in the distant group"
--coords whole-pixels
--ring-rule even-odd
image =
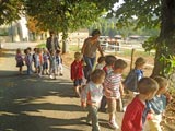
[[[57,61],[56,61],[56,51],[55,50],[50,50],[49,60],[50,60],[50,79],[56,80]]]

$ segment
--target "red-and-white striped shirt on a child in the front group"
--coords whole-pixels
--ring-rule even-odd
[[[105,91],[109,91],[110,94],[105,92],[105,96],[107,98],[120,98],[120,83],[121,83],[121,74],[115,74],[112,72],[109,75],[106,76],[104,82]]]

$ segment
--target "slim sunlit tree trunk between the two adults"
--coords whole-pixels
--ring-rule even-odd
[[[68,52],[68,32],[62,32],[62,53]]]

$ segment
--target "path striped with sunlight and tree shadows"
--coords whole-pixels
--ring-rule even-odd
[[[0,61],[0,131],[91,131],[86,112],[73,97],[69,70],[58,80],[18,75],[14,51]],[[117,114],[120,124],[122,114]],[[102,131],[110,131],[100,112]]]

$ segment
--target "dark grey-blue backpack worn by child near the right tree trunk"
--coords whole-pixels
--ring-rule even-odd
[[[124,85],[131,92],[137,92],[138,88],[138,75],[136,70],[131,70],[124,81]]]

